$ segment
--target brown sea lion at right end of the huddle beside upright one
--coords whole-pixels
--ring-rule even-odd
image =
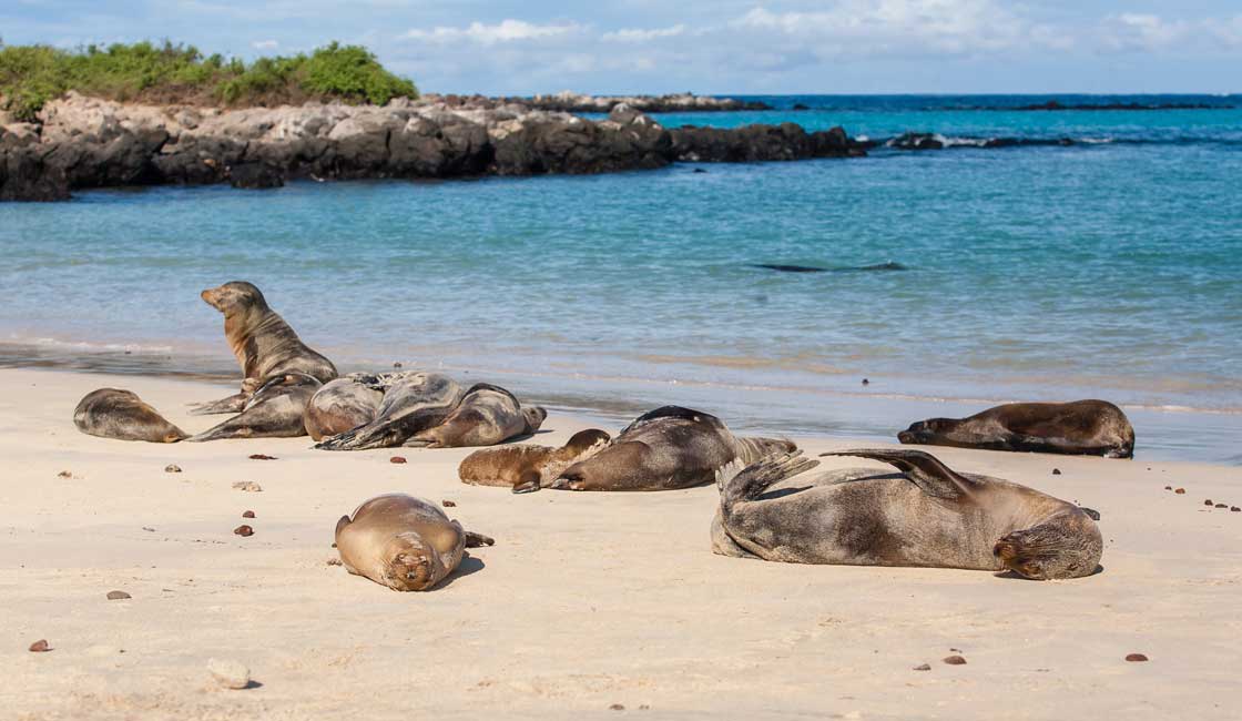
[[[405,443],[424,448],[466,448],[496,445],[539,430],[548,411],[534,405],[523,408],[508,390],[489,383],[476,383],[443,423],[419,431]]]

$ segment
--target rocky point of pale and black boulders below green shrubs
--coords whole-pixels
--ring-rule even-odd
[[[626,103],[592,121],[503,99],[224,111],[71,92],[39,119],[14,123],[0,113],[0,200],[66,200],[72,190],[125,185],[591,174],[677,160],[847,158],[867,148],[841,128],[807,133],[794,123],[667,129]]]

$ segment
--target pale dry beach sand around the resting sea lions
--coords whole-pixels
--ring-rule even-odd
[[[73,406],[106,385],[191,433],[220,418],[185,404],[231,392],[0,370],[0,717],[1242,715],[1242,513],[1203,506],[1242,505],[1242,469],[940,449],[960,470],[1099,510],[1104,572],[1037,583],[792,566],[712,554],[714,487],[514,496],[458,482],[465,449],[78,433]],[[540,443],[561,443],[582,424],[545,428]],[[397,454],[410,462],[390,464]],[[448,513],[497,544],[430,593],[328,566],[337,518],[384,491],[451,498]],[[250,538],[232,535],[245,510]],[[133,598],[107,600],[113,589]],[[53,650],[29,653],[41,638]],[[943,664],[950,649],[968,665]],[[219,687],[209,659],[243,663],[261,686]]]

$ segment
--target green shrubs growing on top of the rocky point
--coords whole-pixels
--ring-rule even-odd
[[[384,104],[419,97],[409,80],[365,47],[333,42],[310,55],[251,63],[204,57],[193,45],[88,45],[76,51],[0,41],[0,109],[20,121],[67,91],[114,101],[196,106],[274,106],[309,99]]]

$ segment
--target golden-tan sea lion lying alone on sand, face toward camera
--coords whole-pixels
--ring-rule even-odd
[[[376,496],[337,521],[345,569],[392,590],[428,590],[452,573],[466,548],[496,541],[465,531],[438,506],[406,496]]]

